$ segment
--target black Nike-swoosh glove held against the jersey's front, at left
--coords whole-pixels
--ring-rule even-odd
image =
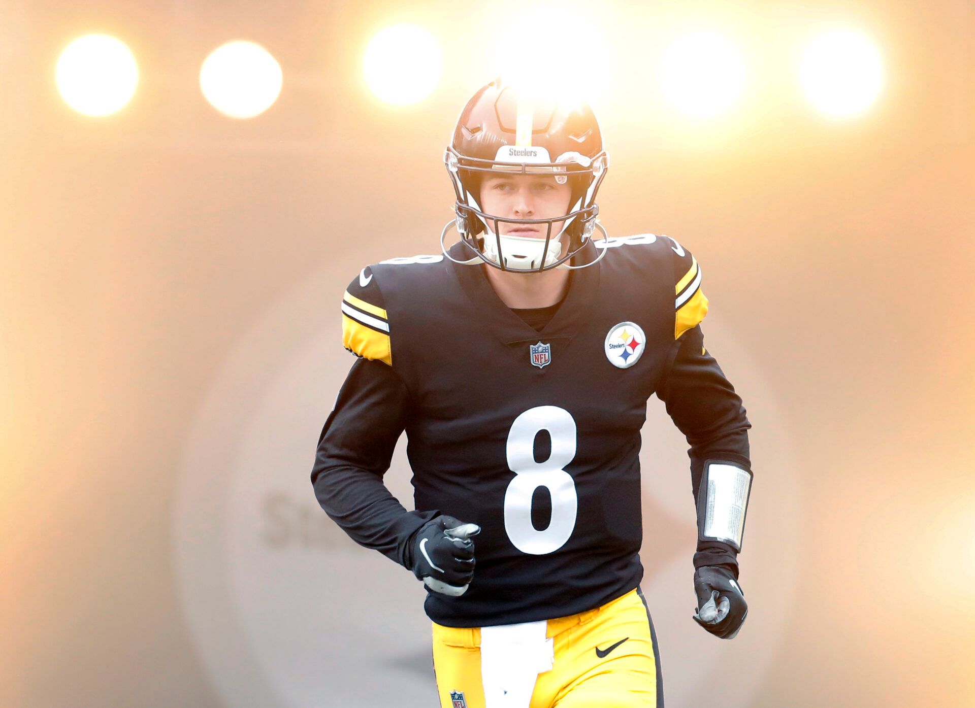
[[[434,592],[463,595],[474,578],[474,541],[469,539],[479,533],[477,524],[452,516],[431,519],[410,540],[410,570]]]

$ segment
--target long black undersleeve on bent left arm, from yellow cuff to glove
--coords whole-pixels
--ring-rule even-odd
[[[402,565],[409,563],[410,536],[439,513],[407,511],[382,482],[408,416],[409,392],[397,373],[378,361],[356,361],[322,429],[311,472],[331,520]]]

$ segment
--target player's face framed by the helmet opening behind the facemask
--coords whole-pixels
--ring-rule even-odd
[[[481,208],[485,213],[514,219],[551,219],[568,213],[572,188],[566,181],[559,184],[554,176],[541,174],[510,174],[491,176],[481,186]],[[558,236],[565,222],[552,225],[552,236]],[[493,230],[494,224],[487,224]],[[502,236],[524,236],[544,239],[546,224],[511,224],[497,222]]]

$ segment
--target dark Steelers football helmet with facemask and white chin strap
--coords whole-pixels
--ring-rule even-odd
[[[604,231],[596,218],[596,193],[609,161],[596,117],[582,101],[568,103],[532,95],[495,79],[464,106],[444,162],[456,201],[455,219],[444,228],[441,245],[450,226],[455,226],[472,254],[466,263],[483,261],[503,271],[546,271],[563,266],[597,227]],[[567,180],[571,186],[568,212],[549,219],[485,213],[479,205],[481,182],[498,171],[548,173],[560,184]],[[545,239],[501,235],[501,222],[542,224]],[[563,228],[554,234],[559,222]],[[562,255],[564,239],[568,247]],[[446,247],[444,252],[447,254]]]

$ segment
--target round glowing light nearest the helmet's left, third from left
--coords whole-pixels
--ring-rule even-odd
[[[372,93],[387,103],[407,105],[437,87],[443,63],[433,35],[413,24],[397,24],[372,37],[363,70]]]

